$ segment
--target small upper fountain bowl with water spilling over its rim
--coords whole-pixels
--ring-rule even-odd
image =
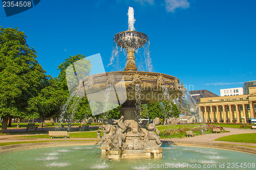
[[[114,36],[114,42],[125,49],[140,48],[146,41],[148,41],[148,36],[138,31],[123,31]]]

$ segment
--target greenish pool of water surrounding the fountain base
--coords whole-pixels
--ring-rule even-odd
[[[255,169],[253,154],[167,145],[163,149],[163,158],[143,160],[109,160],[101,156],[99,145],[28,149],[0,154],[0,169]]]

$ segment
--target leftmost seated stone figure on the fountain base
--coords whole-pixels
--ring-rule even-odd
[[[105,125],[103,128],[105,129],[102,131],[104,135],[101,137],[101,140],[99,143],[102,143],[104,145],[110,145],[112,142],[111,136],[115,133],[115,130],[116,130],[116,128],[113,126],[113,120],[111,118],[108,119],[108,124]]]

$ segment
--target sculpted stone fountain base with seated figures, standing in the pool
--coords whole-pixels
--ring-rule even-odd
[[[163,150],[161,148],[161,143],[159,143],[159,131],[156,128],[156,125],[159,124],[159,118],[155,118],[153,124],[148,126],[150,129],[147,129],[145,123],[138,125],[134,119],[124,120],[124,123],[122,123],[123,118],[124,116],[117,120],[118,126],[115,129],[116,133],[111,137],[112,143],[102,142],[102,155],[108,155],[109,159],[161,158],[163,156]],[[106,127],[109,127],[109,125],[106,125]],[[120,129],[125,129],[125,132],[120,134]],[[109,135],[109,133],[105,133],[108,133],[108,131],[104,131],[104,136],[102,136],[102,138]],[[118,141],[115,141],[119,135],[121,137],[118,138]],[[121,138],[122,141],[120,141]],[[101,141],[103,141],[103,139]],[[115,144],[116,142],[119,144]]]

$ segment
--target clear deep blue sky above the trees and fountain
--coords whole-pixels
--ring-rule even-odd
[[[153,71],[177,77],[189,90],[218,95],[256,80],[253,0],[48,0],[9,17],[0,7],[0,26],[24,31],[38,62],[57,77],[57,66],[70,55],[100,53],[107,66],[113,36],[128,29],[129,7],[135,10],[135,30],[150,39]]]

